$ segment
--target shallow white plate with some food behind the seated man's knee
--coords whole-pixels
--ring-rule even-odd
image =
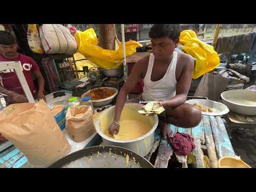
[[[229,112],[228,107],[223,103],[207,99],[191,99],[187,100],[186,103],[193,105],[201,110],[202,115],[219,116],[225,115]]]

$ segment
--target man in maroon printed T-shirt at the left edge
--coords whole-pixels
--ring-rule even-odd
[[[42,76],[37,63],[30,57],[17,52],[15,38],[7,31],[0,31],[0,65],[1,62],[20,61],[23,74],[27,80],[29,89],[35,99],[44,99],[44,77]],[[38,82],[38,91],[35,88],[32,74],[35,74]],[[25,93],[20,85],[19,79],[13,69],[0,71],[3,86],[0,92],[9,97],[10,103],[27,102]]]

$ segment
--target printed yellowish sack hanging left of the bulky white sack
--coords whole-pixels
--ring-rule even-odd
[[[31,51],[34,53],[44,53],[36,24],[28,24],[27,38]]]

